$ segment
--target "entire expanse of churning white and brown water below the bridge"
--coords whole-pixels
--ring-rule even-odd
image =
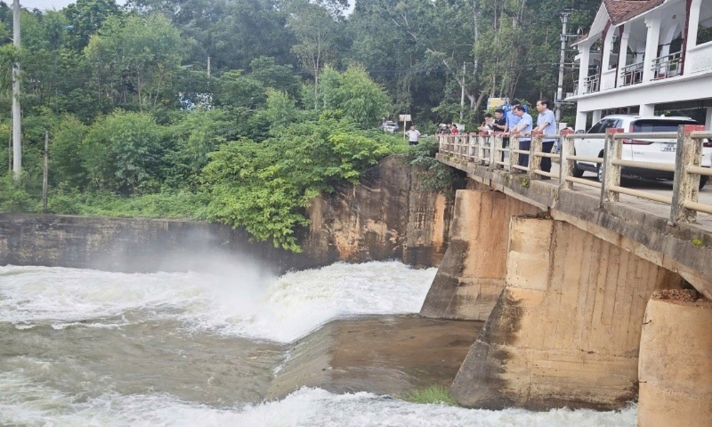
[[[417,312],[434,274],[0,267],[0,426],[635,425],[634,408],[476,411],[307,388],[261,401],[289,342],[339,317]]]

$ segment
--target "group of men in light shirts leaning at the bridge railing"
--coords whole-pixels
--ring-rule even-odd
[[[528,151],[531,147],[532,132],[542,132],[543,135],[556,135],[556,119],[554,112],[549,108],[548,100],[538,100],[536,102],[536,110],[539,113],[536,120],[536,127],[532,116],[527,112],[527,109],[521,102],[514,100],[511,103],[511,110],[505,112],[502,108],[498,108],[494,112],[494,117],[491,114],[485,115],[485,122],[479,127],[481,132],[503,132],[503,146],[507,147],[509,137],[517,135],[519,141],[519,149]],[[545,138],[542,144],[542,151],[546,153],[552,152],[556,139]],[[520,166],[528,166],[528,154],[519,154]],[[543,157],[541,159],[541,170],[551,172],[551,159]],[[543,177],[548,179],[548,177]]]

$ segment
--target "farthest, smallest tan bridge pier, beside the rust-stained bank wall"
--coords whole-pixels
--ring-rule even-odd
[[[504,288],[510,219],[540,213],[498,191],[457,191],[450,245],[420,314],[487,320]]]

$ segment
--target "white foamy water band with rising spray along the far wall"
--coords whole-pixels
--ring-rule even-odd
[[[397,262],[337,263],[280,278],[226,265],[154,274],[6,266],[0,322],[115,327],[115,317],[142,312],[189,329],[290,342],[337,317],[418,312],[435,273]]]

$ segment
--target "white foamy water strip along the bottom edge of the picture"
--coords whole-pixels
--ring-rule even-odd
[[[635,408],[621,412],[557,409],[483,411],[409,404],[369,393],[303,388],[282,401],[241,408],[190,404],[170,396],[105,394],[76,403],[19,374],[0,374],[0,425],[51,427],[633,427]]]

